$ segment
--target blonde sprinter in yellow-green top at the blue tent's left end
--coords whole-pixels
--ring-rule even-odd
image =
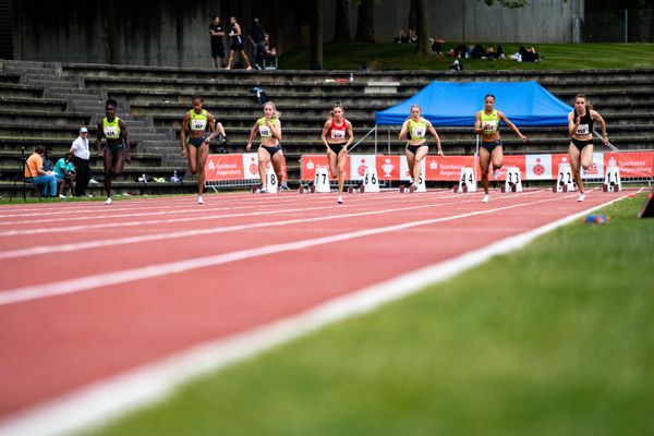
[[[422,177],[422,161],[424,157],[427,156],[427,152],[429,150],[426,140],[427,130],[436,140],[438,156],[444,155],[443,148],[440,147],[440,137],[438,137],[438,133],[436,133],[436,129],[434,129],[429,120],[422,118],[421,107],[419,105],[411,106],[410,114],[411,117],[402,124],[399,138],[400,141],[407,140],[407,148],[404,154],[407,155],[407,165],[409,166],[409,171],[413,177],[413,183],[410,187],[410,190],[413,192],[420,184],[420,178]]]

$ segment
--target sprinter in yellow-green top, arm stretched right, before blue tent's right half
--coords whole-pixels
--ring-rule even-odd
[[[493,161],[493,178],[497,179],[497,170],[504,164],[504,155],[501,154],[501,138],[499,137],[499,121],[511,129],[522,142],[526,141],[516,124],[509,121],[499,110],[495,109],[495,96],[487,94],[484,97],[484,109],[475,114],[474,133],[482,135],[482,147],[480,148],[480,168],[482,170],[482,184],[484,186],[484,198],[482,202],[488,203],[488,167]]]

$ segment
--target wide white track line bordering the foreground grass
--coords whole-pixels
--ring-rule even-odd
[[[218,371],[338,320],[368,313],[382,304],[445,281],[467,269],[526,245],[535,238],[626,196],[561,218],[525,233],[497,241],[450,261],[336,298],[316,307],[228,338],[194,346],[114,377],[97,382],[0,422],[0,436],[63,435],[120,417],[160,401],[191,377]]]

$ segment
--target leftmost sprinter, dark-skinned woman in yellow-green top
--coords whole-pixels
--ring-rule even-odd
[[[105,191],[107,192],[106,205],[112,203],[111,199],[111,178],[121,175],[125,161],[130,158],[130,138],[128,137],[128,126],[125,122],[116,117],[118,102],[113,98],[105,102],[105,117],[98,123],[96,148],[98,157],[105,158]],[[107,142],[105,152],[101,150],[102,137]]]

